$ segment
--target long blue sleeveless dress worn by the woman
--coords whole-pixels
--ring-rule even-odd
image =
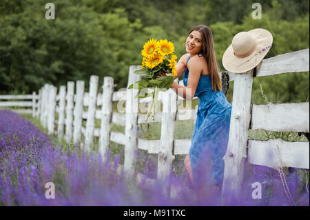
[[[187,63],[183,77],[184,86],[187,86],[189,74]],[[192,145],[189,149],[194,186],[220,184],[224,177],[223,157],[229,137],[231,104],[222,91],[212,90],[209,75],[200,74],[194,96],[199,99]]]

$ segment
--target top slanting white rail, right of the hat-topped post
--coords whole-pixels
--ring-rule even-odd
[[[309,48],[262,60],[262,65],[258,68],[256,77],[307,71],[309,71]]]

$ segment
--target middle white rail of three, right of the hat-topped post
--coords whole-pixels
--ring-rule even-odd
[[[251,129],[309,132],[309,102],[253,105]]]

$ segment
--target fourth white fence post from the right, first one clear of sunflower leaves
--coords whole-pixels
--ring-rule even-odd
[[[112,94],[114,88],[114,79],[105,77],[103,79],[103,95],[101,108],[101,130],[99,137],[99,153],[105,160],[106,152],[110,143],[110,122],[112,117]]]

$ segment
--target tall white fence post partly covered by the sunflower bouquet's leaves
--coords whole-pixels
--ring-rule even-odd
[[[127,88],[134,82],[141,79],[135,70],[140,70],[140,66],[130,66]],[[134,99],[138,93],[138,85],[134,84],[134,88],[127,89],[126,97],[126,124],[125,124],[125,160],[124,174],[125,177],[131,178],[134,174],[136,166],[137,137],[138,137],[138,99]]]

